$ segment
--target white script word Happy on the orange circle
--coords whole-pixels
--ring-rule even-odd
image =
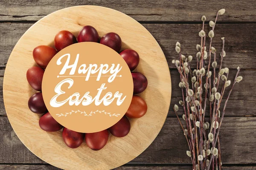
[[[63,74],[65,74],[67,69],[71,68],[69,75],[74,75],[76,72],[76,68],[77,68],[77,64],[78,64],[78,60],[79,60],[79,54],[76,55],[76,60],[75,60],[74,64],[70,65],[70,63],[69,63],[70,62],[70,54],[64,54],[57,60],[57,62],[56,62],[57,65],[62,64],[61,59],[64,57],[67,57],[67,60],[59,74],[63,75]],[[96,74],[96,73],[98,73],[96,81],[99,81],[100,78],[102,77],[102,74],[107,74],[109,72],[111,75],[109,75],[108,82],[113,82],[113,80],[116,77],[121,77],[121,75],[117,76],[118,72],[122,69],[122,67],[120,67],[120,68],[119,67],[120,67],[120,64],[117,64],[116,66],[115,66],[115,64],[112,64],[112,66],[110,68],[109,68],[108,64],[101,64],[99,67],[97,64],[89,64],[88,67],[86,64],[82,64],[79,66],[77,72],[79,74],[87,73],[87,75],[85,76],[86,77],[85,81],[89,80],[91,74]],[[61,76],[58,76],[58,77],[61,77]]]

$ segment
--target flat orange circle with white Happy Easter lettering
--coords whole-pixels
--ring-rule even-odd
[[[57,122],[77,132],[93,133],[111,127],[125,115],[133,96],[133,80],[116,51],[95,42],[79,42],[51,59],[42,94]]]

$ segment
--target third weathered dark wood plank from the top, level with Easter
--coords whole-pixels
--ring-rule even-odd
[[[232,80],[235,77],[236,70],[230,70],[229,79]],[[243,76],[243,81],[236,84],[233,89],[232,94],[230,95],[230,100],[227,104],[226,116],[255,116],[256,107],[256,94],[252,93],[256,91],[256,86],[254,85],[254,80],[256,79],[255,71],[240,71],[240,75]],[[178,71],[171,70],[172,78],[172,100],[171,107],[169,109],[168,116],[175,116],[172,110],[172,105],[177,104],[179,100],[182,99],[181,90],[178,87],[180,82],[180,77],[178,76]],[[227,98],[227,93],[230,87],[227,88],[227,91],[224,95],[224,99]],[[248,90],[250,89],[250,90]],[[221,103],[221,108],[224,106],[225,100]],[[209,110],[209,105],[207,103],[207,111]],[[183,114],[182,109],[180,109],[179,114]],[[0,77],[0,115],[6,115],[6,111],[3,103],[3,77]]]

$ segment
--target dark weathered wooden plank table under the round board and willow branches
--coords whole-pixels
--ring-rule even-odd
[[[0,169],[58,169],[33,155],[17,138],[6,116],[3,104],[3,75],[7,60],[22,34],[37,20],[61,8],[77,5],[98,5],[119,10],[139,21],[163,49],[172,77],[172,102],[181,99],[179,75],[172,59],[177,58],[175,43],[183,46],[183,54],[195,54],[200,42],[201,16],[213,20],[215,13],[225,8],[218,19],[213,46],[221,49],[220,37],[225,37],[223,67],[230,68],[232,79],[239,65],[243,81],[230,96],[221,127],[222,163],[226,170],[256,169],[256,3],[253,0],[1,0],[0,1]],[[207,22],[208,23],[208,22]],[[206,26],[209,31],[209,26]],[[207,41],[209,43],[209,40]],[[209,45],[209,44],[208,44]],[[227,94],[224,96],[227,98]],[[224,102],[223,102],[224,103]],[[182,113],[180,113],[181,116]],[[209,115],[208,115],[209,116]],[[29,121],[29,120],[28,120]],[[172,109],[163,129],[140,156],[117,169],[192,169],[186,156],[187,144]]]

